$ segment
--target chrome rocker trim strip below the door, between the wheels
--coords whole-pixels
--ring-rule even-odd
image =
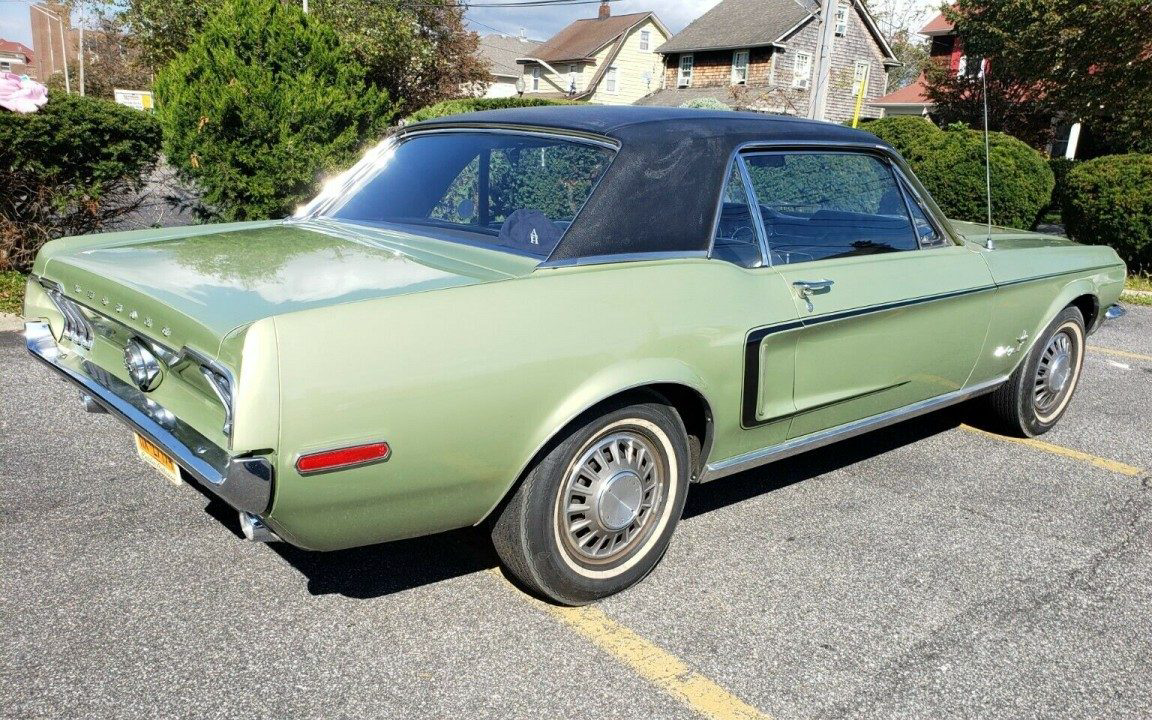
[[[930,397],[929,400],[923,400],[904,408],[889,410],[880,415],[838,425],[836,427],[831,427],[828,430],[821,430],[820,432],[804,435],[803,438],[795,438],[780,445],[774,445],[759,450],[752,450],[751,453],[744,453],[743,455],[729,457],[728,460],[722,460],[720,462],[708,463],[708,465],[704,469],[704,473],[700,475],[699,482],[707,483],[715,480],[729,475],[743,472],[744,470],[751,470],[752,468],[757,468],[770,462],[791,457],[793,455],[798,455],[799,453],[806,450],[832,445],[833,442],[839,442],[840,440],[847,440],[848,438],[854,438],[872,430],[895,425],[902,420],[925,415],[927,412],[932,412],[933,410],[939,410],[940,408],[946,408],[948,406],[956,404],[957,402],[963,402],[971,397],[976,397],[977,395],[991,392],[1007,379],[1008,376],[1002,376],[995,378],[994,380],[979,382],[971,387],[964,387],[945,395]]]

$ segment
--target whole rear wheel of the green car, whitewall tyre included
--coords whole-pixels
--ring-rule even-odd
[[[688,492],[688,433],[661,402],[574,423],[529,470],[492,541],[530,590],[564,605],[620,592],[664,556]]]

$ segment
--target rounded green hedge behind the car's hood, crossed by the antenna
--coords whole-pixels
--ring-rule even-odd
[[[941,130],[919,118],[886,118],[862,129],[904,156],[949,218],[971,222],[987,218],[983,132],[967,128]],[[1048,161],[1003,132],[990,134],[988,144],[993,222],[1016,228],[1034,226],[1055,184]]]

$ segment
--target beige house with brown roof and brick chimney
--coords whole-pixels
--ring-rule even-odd
[[[670,35],[654,13],[613,16],[602,2],[597,17],[577,20],[517,59],[524,97],[631,105],[660,86],[655,48]]]

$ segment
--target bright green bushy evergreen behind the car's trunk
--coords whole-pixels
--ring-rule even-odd
[[[288,214],[393,114],[336,35],[279,0],[225,0],[156,91],[168,160],[223,220]]]

